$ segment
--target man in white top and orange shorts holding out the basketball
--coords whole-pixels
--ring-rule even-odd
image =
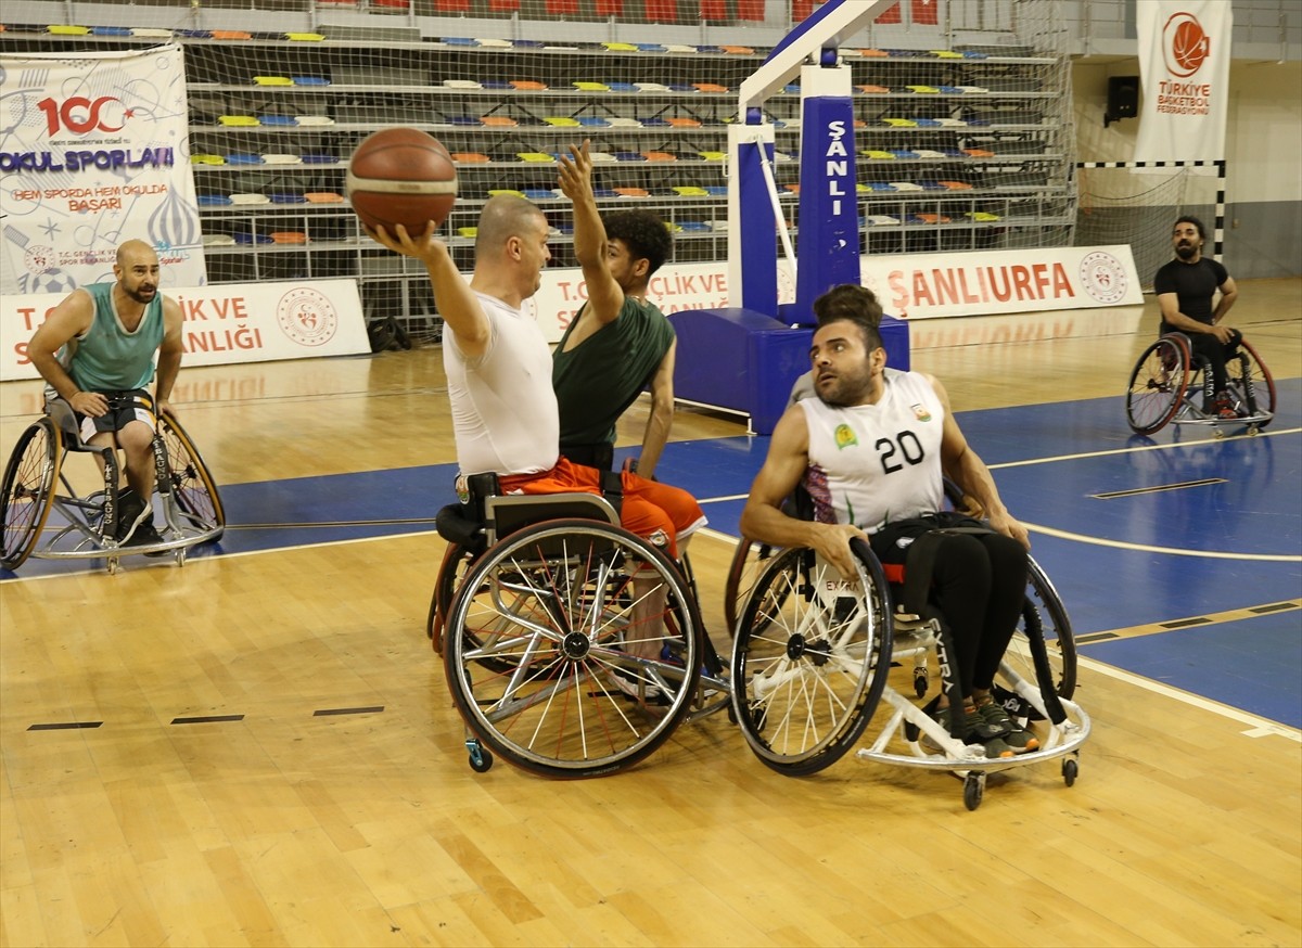
[[[538,323],[522,311],[551,259],[547,217],[521,197],[491,197],[480,211],[469,284],[434,230],[431,224],[424,233],[409,234],[398,225],[396,234],[381,228],[371,236],[421,260],[430,273],[445,327],[443,365],[461,473],[496,474],[503,494],[607,492],[603,471],[560,454],[551,348]],[[631,471],[615,483],[622,492],[618,508],[625,529],[671,557],[706,523],[700,505],[684,490]],[[658,589],[663,599],[663,586]],[[641,599],[644,615],[663,616],[663,602]],[[654,658],[660,646],[658,637],[647,635],[629,643],[628,651]]]

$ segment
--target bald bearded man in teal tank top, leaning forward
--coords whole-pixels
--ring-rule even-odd
[[[47,383],[47,398],[72,408],[81,440],[126,456],[117,540],[159,543],[151,505],[154,430],[181,369],[181,307],[159,292],[159,258],[145,241],[129,240],[117,249],[113,276],[115,283],[69,293],[33,335],[27,352]]]

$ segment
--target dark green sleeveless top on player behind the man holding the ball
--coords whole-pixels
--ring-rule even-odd
[[[561,444],[613,441],[615,422],[651,382],[669,352],[673,327],[655,305],[633,297],[625,297],[615,322],[565,352],[575,326],[577,316],[552,356]]]

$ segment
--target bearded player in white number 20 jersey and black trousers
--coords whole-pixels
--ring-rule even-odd
[[[956,736],[984,745],[991,758],[1036,749],[1034,734],[991,697],[1026,594],[1026,529],[1000,500],[940,382],[887,367],[881,307],[871,290],[833,288],[814,313],[815,397],[799,398],[779,419],[742,510],[742,534],[810,547],[846,577],[855,576],[853,538],[867,540],[883,564],[930,565],[930,602],[957,652]],[[988,525],[943,508],[944,477],[980,504]],[[798,486],[814,501],[812,521],[783,512]],[[949,727],[945,689],[927,712]]]

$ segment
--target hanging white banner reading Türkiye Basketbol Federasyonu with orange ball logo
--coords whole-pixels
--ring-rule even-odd
[[[1135,161],[1225,158],[1233,12],[1229,0],[1143,0]]]

